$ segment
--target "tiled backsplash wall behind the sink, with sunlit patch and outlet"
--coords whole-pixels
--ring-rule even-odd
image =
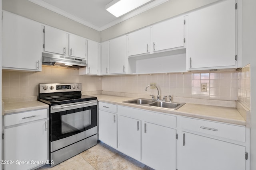
[[[102,78],[102,90],[156,96],[156,90],[148,88],[145,92],[146,86],[153,82],[158,86],[160,96],[237,100],[237,71],[106,76]],[[207,84],[207,92],[200,91],[201,83]]]

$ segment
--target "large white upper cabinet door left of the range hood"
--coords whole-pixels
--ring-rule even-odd
[[[41,37],[40,23],[3,11],[2,67],[40,71]]]

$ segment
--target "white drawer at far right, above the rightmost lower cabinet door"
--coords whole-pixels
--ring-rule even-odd
[[[245,142],[245,127],[182,117],[182,129]]]

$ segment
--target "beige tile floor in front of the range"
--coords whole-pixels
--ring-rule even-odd
[[[153,170],[108,145],[98,145],[54,166],[42,166],[37,170]]]

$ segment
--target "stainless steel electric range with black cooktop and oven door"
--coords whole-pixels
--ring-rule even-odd
[[[81,91],[81,83],[39,84],[38,100],[49,104],[51,166],[97,144],[97,98]]]

